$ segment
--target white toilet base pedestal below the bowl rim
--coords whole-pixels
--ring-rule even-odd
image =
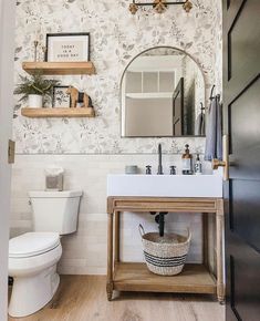
[[[9,314],[21,318],[41,310],[51,301],[59,283],[56,265],[30,277],[13,278]]]

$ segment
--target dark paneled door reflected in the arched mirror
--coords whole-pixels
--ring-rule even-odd
[[[173,96],[173,136],[184,135],[184,79],[181,77]]]

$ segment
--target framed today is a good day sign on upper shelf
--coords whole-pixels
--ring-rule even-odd
[[[90,61],[90,33],[48,33],[45,61]]]

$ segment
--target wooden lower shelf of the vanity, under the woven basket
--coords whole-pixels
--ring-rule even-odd
[[[186,265],[180,275],[163,277],[152,273],[145,263],[118,262],[114,270],[114,289],[142,292],[217,293],[216,280],[202,265]]]

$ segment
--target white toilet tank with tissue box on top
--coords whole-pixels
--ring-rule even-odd
[[[33,230],[72,234],[77,229],[82,191],[30,191]]]

